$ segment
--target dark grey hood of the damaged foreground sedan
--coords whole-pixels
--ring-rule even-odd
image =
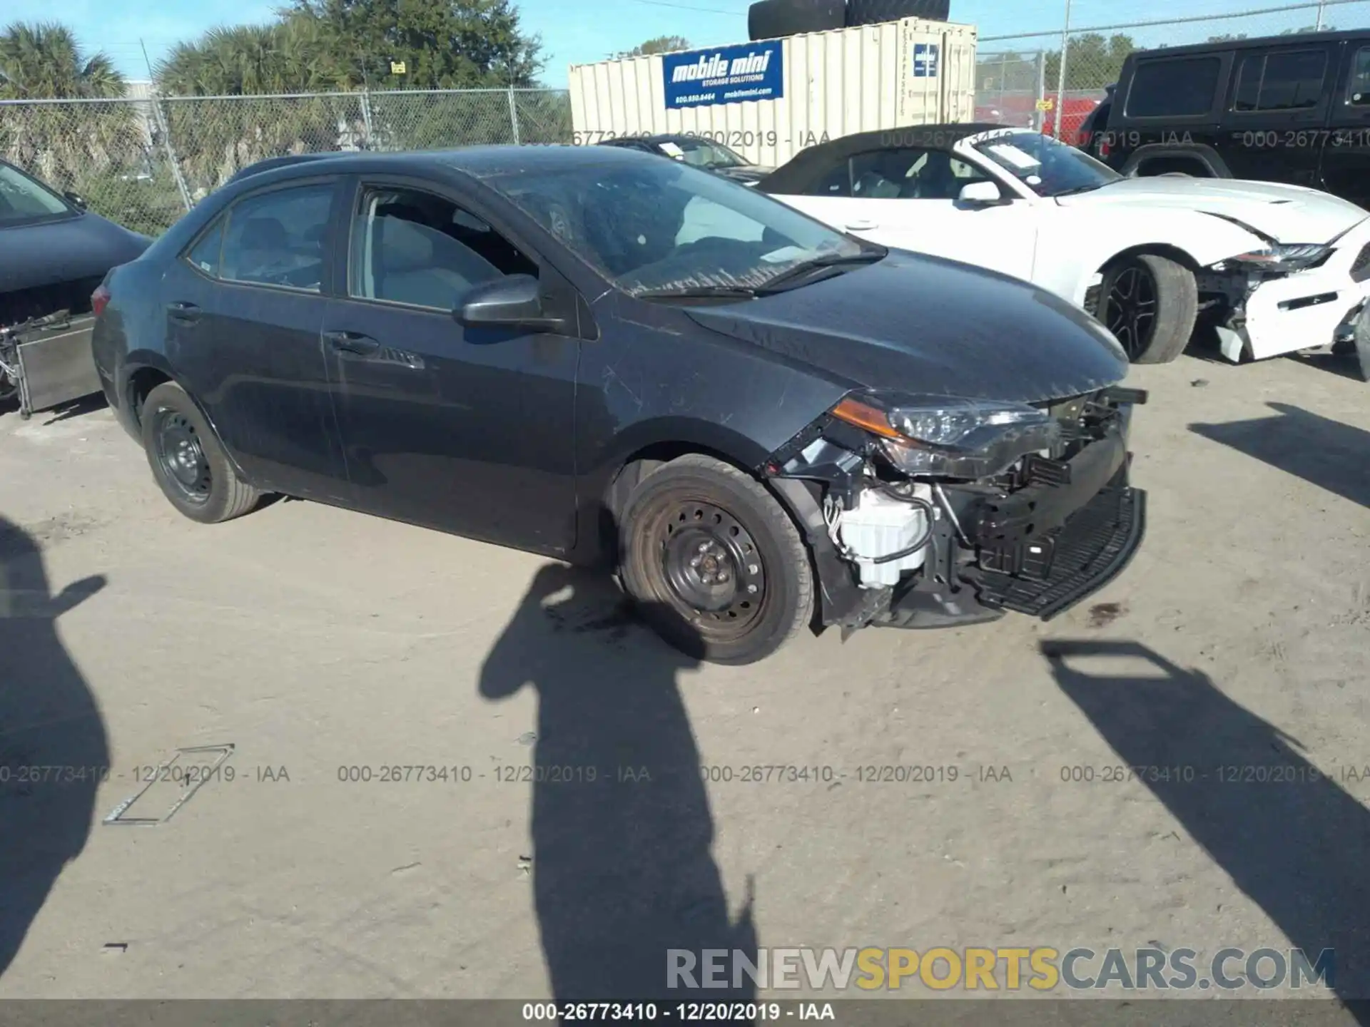
[[[1038,403],[1128,374],[1112,335],[1052,293],[904,251],[774,296],[686,312],[852,386]]]

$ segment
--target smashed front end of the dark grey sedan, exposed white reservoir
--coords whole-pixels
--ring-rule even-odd
[[[758,468],[808,531],[822,623],[1049,620],[1136,553],[1137,389],[1041,404],[855,392]]]

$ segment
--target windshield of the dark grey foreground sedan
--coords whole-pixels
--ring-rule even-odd
[[[674,160],[604,160],[486,182],[630,294],[758,289],[815,259],[880,252]]]

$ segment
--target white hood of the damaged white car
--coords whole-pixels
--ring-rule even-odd
[[[1123,178],[1093,192],[1062,196],[1062,207],[1089,211],[1158,207],[1199,211],[1240,222],[1277,242],[1330,242],[1366,219],[1366,211],[1317,189],[1230,178]]]

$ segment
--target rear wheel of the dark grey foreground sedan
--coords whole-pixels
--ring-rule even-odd
[[[256,507],[262,493],[238,478],[218,435],[185,389],[163,382],[148,393],[140,419],[152,477],[185,516],[218,524]]]

